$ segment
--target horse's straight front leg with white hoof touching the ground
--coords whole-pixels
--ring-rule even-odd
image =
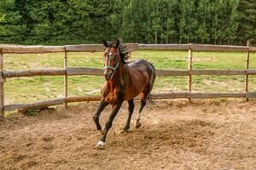
[[[110,116],[108,117],[108,122],[105,125],[105,128],[106,128],[105,132],[102,135],[102,139],[96,145],[96,147],[98,149],[103,149],[104,148],[104,144],[106,142],[108,130],[112,127],[113,119],[117,115],[122,103],[123,103],[123,101],[120,102],[119,104],[113,105],[113,110],[112,110]]]

